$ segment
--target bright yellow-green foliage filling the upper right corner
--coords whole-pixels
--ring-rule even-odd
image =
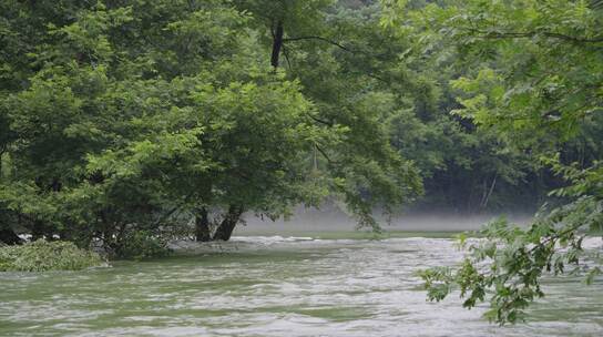
[[[407,1],[391,2],[401,11]],[[589,1],[449,1],[390,18],[446,37],[473,62],[452,82],[469,94],[456,113],[523,146],[575,136],[601,111],[603,16]]]

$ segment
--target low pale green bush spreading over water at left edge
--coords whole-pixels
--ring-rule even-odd
[[[39,239],[22,246],[0,246],[0,272],[80,270],[102,263],[99,254],[70,242]]]

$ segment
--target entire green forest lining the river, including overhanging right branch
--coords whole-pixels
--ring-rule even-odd
[[[423,274],[433,299],[460,283],[469,307],[508,287],[491,314],[505,321],[603,222],[601,1],[1,0],[0,12],[4,243],[127,257],[333,200],[375,231],[374,212],[545,205],[528,229],[486,229],[509,251]],[[554,255],[558,242],[573,248]]]

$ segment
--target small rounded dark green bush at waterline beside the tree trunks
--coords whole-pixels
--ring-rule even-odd
[[[131,231],[119,243],[115,255],[122,258],[142,259],[170,255],[167,243],[149,231]]]

